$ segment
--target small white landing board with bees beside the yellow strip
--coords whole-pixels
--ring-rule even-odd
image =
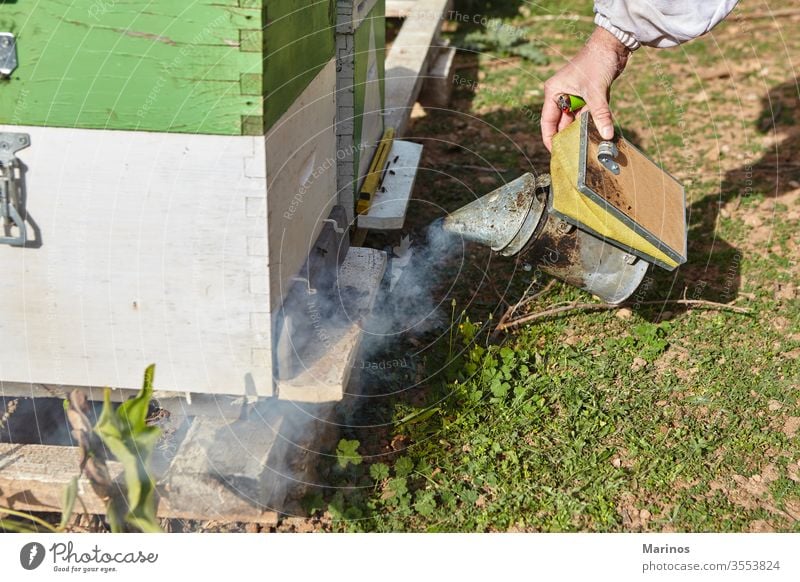
[[[402,140],[395,140],[392,143],[382,187],[375,194],[369,212],[358,217],[359,228],[376,230],[403,228],[421,157],[420,144]]]

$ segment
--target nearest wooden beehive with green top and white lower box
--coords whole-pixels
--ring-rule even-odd
[[[273,395],[272,313],[336,203],[335,8],[0,4],[0,132],[30,137],[4,386],[136,389],[155,362],[164,390]]]

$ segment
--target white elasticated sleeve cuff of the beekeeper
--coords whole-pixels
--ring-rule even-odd
[[[631,50],[667,48],[719,24],[738,0],[595,0],[595,24]]]

